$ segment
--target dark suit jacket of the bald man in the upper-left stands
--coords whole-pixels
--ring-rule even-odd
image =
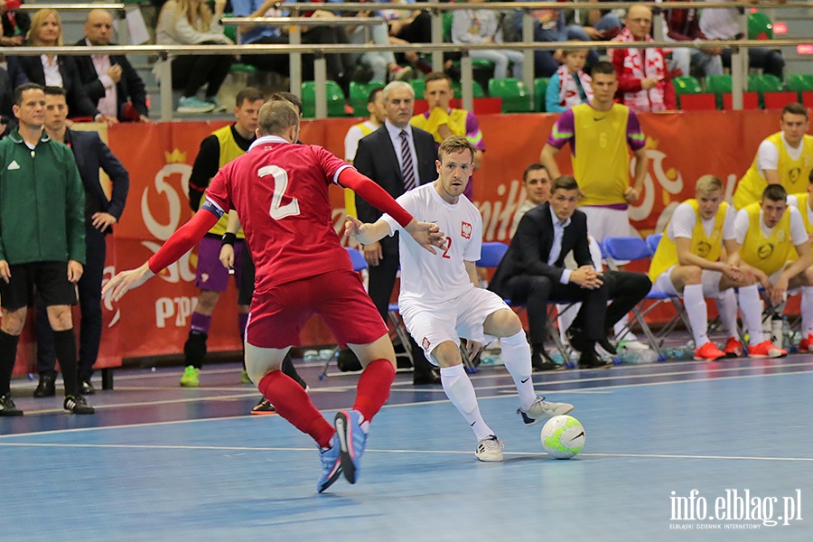
[[[79,42],[76,42],[76,44],[80,47],[88,45],[84,38],[79,40]],[[115,44],[116,43],[110,43],[110,45]],[[92,101],[94,105],[98,104],[98,100],[105,97],[105,86],[98,79],[96,67],[93,65],[93,59],[90,56],[78,56],[73,57],[73,60],[76,61],[76,67],[79,72],[79,80],[81,81],[85,92],[88,94],[90,101]],[[121,79],[116,83],[116,115],[118,120],[127,120],[126,118],[122,117],[121,113],[123,107],[125,107],[125,104],[128,101],[133,103],[133,107],[135,107],[135,110],[139,115],[144,115],[146,117],[149,114],[149,110],[146,107],[146,91],[144,81],[138,77],[138,73],[135,71],[130,62],[127,61],[126,56],[111,54],[110,64],[117,64],[121,66]]]

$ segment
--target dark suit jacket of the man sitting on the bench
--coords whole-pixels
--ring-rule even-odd
[[[575,210],[562,235],[562,250],[554,264],[548,265],[547,258],[553,248],[554,227],[550,203],[537,205],[528,210],[519,220],[517,232],[500,266],[494,272],[489,289],[503,297],[510,298],[507,282],[519,275],[548,276],[558,283],[565,270],[565,256],[572,250],[579,266],[592,266],[590,247],[587,241],[587,215]]]

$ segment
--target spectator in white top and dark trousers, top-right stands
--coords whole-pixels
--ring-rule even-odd
[[[724,4],[734,0],[706,0],[709,4]],[[750,0],[753,4],[757,0]],[[784,4],[785,0],[777,0]],[[705,8],[700,10],[700,30],[709,40],[739,40],[743,37],[740,32],[740,17],[742,15],[736,7]],[[722,53],[724,68],[731,68],[731,50],[725,49]],[[770,73],[782,79],[785,69],[785,60],[780,51],[772,51],[762,47],[748,48],[748,66],[762,69],[763,73]]]

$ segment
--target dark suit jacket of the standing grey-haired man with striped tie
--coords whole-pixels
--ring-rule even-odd
[[[413,141],[415,142],[415,152],[417,154],[418,184],[426,184],[437,179],[437,168],[435,167],[435,138],[429,132],[409,126],[412,130]],[[397,198],[404,193],[404,179],[401,174],[401,166],[398,163],[396,149],[392,145],[389,133],[385,126],[381,126],[370,135],[362,137],[359,142],[359,150],[353,159],[353,166],[359,173],[367,175],[370,179],[386,190],[390,196]],[[375,222],[381,218],[382,212],[358,195],[356,196],[356,210],[359,212],[359,220],[362,222]],[[388,254],[397,253],[397,236],[381,239],[381,248]]]

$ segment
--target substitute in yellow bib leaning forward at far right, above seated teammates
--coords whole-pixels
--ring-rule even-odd
[[[813,135],[806,134],[808,110],[801,104],[785,106],[780,127],[780,132],[762,140],[751,167],[737,183],[736,209],[760,201],[769,184],[781,184],[789,194],[805,191],[813,171]]]

